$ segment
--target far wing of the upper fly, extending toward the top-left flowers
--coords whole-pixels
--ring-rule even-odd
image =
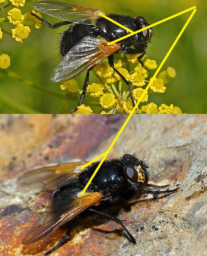
[[[34,2],[32,6],[37,11],[59,18],[60,20],[82,24],[92,24],[92,21],[94,23],[100,17],[99,12],[104,13],[103,11],[88,7],[73,6],[52,1],[38,1]]]

